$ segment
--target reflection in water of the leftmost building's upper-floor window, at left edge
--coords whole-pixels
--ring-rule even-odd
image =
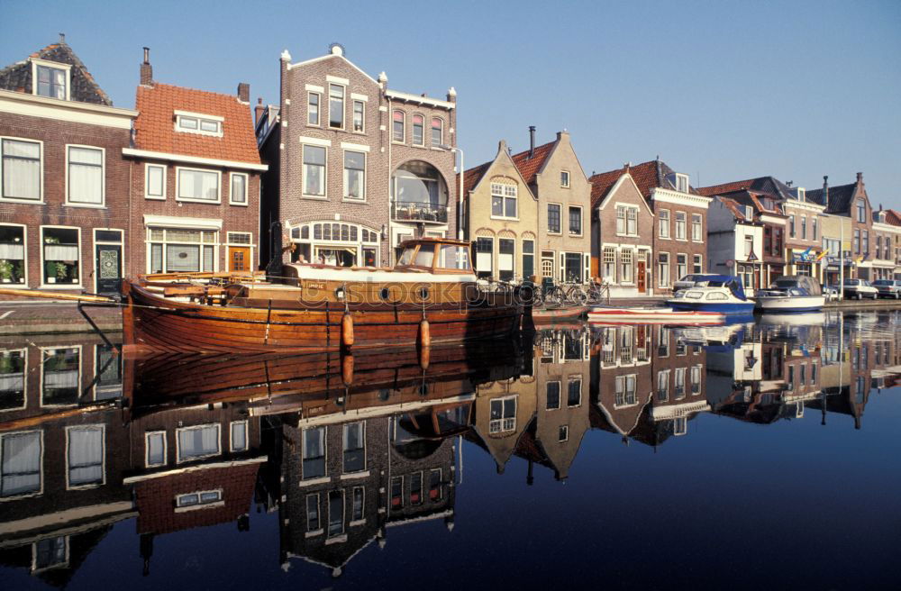
[[[0,435],[0,497],[40,493],[43,455],[40,431]]]

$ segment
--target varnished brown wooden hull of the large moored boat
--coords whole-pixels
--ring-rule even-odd
[[[241,307],[179,302],[123,282],[123,341],[134,350],[228,353],[236,351],[327,351],[342,341],[345,307]],[[500,298],[498,298],[500,299]],[[409,346],[490,339],[519,327],[522,306],[488,300],[478,305],[348,306],[352,348]],[[428,335],[423,339],[423,317]]]

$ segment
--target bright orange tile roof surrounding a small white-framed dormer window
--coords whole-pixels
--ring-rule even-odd
[[[139,114],[134,141],[139,150],[259,164],[250,106],[239,103],[236,95],[154,83],[138,86],[135,109]],[[223,137],[176,132],[176,110],[223,117]]]

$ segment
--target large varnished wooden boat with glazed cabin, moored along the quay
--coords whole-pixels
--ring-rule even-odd
[[[287,264],[258,276],[123,281],[126,348],[202,352],[326,351],[493,338],[519,327],[512,290],[487,290],[469,243],[406,241],[395,268]]]

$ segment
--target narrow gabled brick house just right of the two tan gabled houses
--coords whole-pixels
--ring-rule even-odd
[[[610,287],[612,297],[653,293],[651,259],[654,213],[629,173],[630,165],[592,175],[591,277]]]

